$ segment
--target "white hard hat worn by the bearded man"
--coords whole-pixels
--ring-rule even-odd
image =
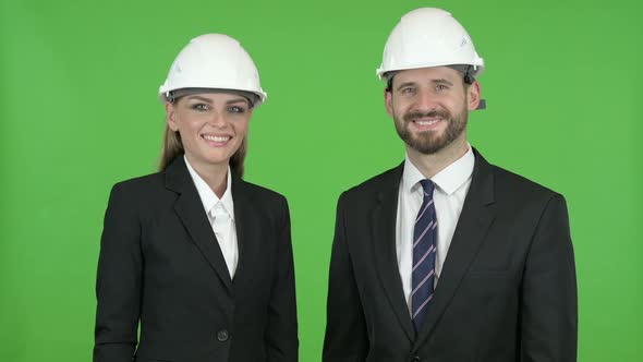
[[[389,35],[377,76],[383,80],[391,71],[454,64],[472,65],[473,76],[484,70],[471,37],[449,12],[420,8],[402,16]]]

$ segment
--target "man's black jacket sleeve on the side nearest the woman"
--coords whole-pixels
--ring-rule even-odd
[[[339,197],[330,255],[324,362],[365,361],[368,337],[364,310],[348,248],[345,193]]]

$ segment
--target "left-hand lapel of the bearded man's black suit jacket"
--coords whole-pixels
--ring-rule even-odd
[[[372,214],[375,265],[388,300],[409,340],[415,338],[409,309],[404,301],[402,280],[396,252],[398,193],[403,164],[386,174]]]

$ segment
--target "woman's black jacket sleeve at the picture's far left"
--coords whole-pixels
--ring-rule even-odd
[[[134,355],[143,270],[139,240],[135,205],[117,184],[100,240],[94,362],[131,362]]]

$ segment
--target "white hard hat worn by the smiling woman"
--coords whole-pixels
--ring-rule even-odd
[[[239,41],[223,34],[205,34],[190,40],[159,87],[159,97],[166,102],[172,90],[184,88],[247,92],[257,96],[254,107],[267,97],[250,55]]]

